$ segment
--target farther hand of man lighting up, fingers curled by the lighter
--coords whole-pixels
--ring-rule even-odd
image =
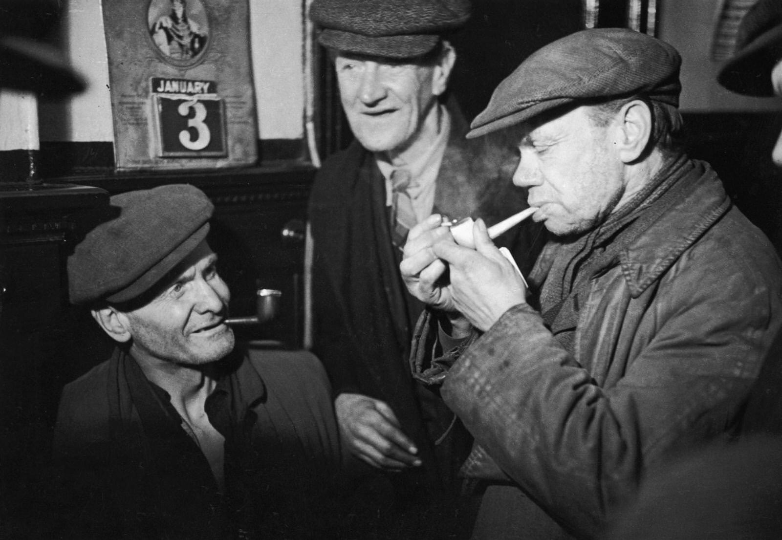
[[[440,223],[440,215],[432,214],[410,230],[399,269],[411,295],[436,309],[453,312],[450,289],[440,281],[447,266],[432,248],[438,242],[450,242],[454,246],[456,243],[448,227]]]

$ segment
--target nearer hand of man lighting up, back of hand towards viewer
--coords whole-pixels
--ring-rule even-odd
[[[454,241],[431,246],[433,256],[450,267],[450,284],[441,295],[481,331],[488,330],[503,313],[526,302],[526,286],[514,266],[505,259],[486,232],[483,220],[472,227],[475,249]],[[405,246],[407,247],[407,246]]]

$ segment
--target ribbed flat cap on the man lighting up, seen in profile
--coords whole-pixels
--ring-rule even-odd
[[[681,57],[664,41],[626,28],[581,30],[522,62],[503,80],[468,138],[497,131],[560,105],[643,94],[679,105]]]

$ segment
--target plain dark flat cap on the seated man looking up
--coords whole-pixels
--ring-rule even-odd
[[[203,191],[170,184],[114,195],[117,213],[68,258],[70,302],[127,302],[152,288],[209,232],[214,209]]]

